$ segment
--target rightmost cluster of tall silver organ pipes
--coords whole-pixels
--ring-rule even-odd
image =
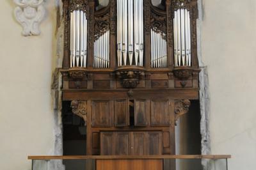
[[[191,66],[191,26],[187,9],[174,12],[173,35],[175,66]]]

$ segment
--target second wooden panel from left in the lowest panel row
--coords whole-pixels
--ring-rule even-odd
[[[129,132],[115,132],[115,155],[129,155]]]

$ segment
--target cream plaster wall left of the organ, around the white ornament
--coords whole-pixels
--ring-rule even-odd
[[[52,56],[55,44],[54,0],[40,36],[24,37],[13,17],[12,0],[0,2],[0,169],[28,170],[28,155],[54,151],[51,106]]]

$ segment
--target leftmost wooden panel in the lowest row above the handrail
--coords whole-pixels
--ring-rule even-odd
[[[100,155],[113,155],[113,133],[100,133]]]

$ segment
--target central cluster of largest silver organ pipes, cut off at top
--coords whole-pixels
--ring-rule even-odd
[[[117,0],[118,66],[143,66],[143,0]]]

